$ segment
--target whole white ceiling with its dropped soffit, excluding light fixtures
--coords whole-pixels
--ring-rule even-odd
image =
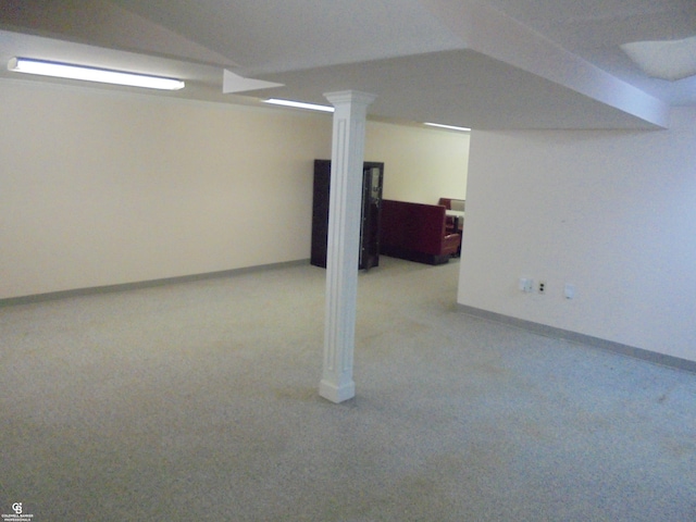
[[[649,78],[620,46],[695,35],[694,0],[4,0],[0,7],[4,63],[20,55],[177,76],[186,89],[159,96],[219,102],[275,97],[327,104],[324,92],[355,89],[377,95],[374,117],[473,128],[668,126],[670,105],[696,104],[696,77]],[[284,86],[224,95],[225,69]],[[0,77],[15,76],[0,70]]]

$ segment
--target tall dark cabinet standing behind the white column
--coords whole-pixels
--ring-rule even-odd
[[[380,211],[384,163],[365,162],[362,169],[362,211],[360,220],[360,270],[380,264]],[[331,160],[314,160],[314,195],[312,202],[312,252],[310,262],[326,268],[328,243],[328,195]]]

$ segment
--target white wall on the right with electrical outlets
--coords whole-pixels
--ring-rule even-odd
[[[696,360],[695,238],[693,108],[669,130],[472,136],[462,304]]]

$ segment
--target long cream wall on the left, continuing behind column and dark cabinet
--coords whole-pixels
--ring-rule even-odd
[[[0,299],[309,259],[331,133],[327,114],[0,82]],[[452,144],[368,125],[389,187],[428,173],[409,194],[461,171]]]

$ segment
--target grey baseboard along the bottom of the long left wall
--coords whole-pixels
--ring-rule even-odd
[[[139,288],[151,288],[156,286],[171,285],[175,283],[188,283],[194,281],[213,279],[216,277],[228,277],[231,275],[249,274],[253,272],[264,272],[269,270],[285,269],[309,264],[309,259],[297,261],[285,261],[281,263],[260,264],[256,266],[245,266],[241,269],[222,270],[219,272],[207,272],[203,274],[181,275],[176,277],[164,277],[161,279],[138,281],[135,283],[122,283],[117,285],[92,286],[88,288],[75,288],[70,290],[50,291],[47,294],[34,294],[30,296],[9,297],[0,299],[0,308],[16,304],[29,304],[35,302],[53,301],[67,297],[91,296],[95,294],[109,294],[112,291],[125,291]]]

